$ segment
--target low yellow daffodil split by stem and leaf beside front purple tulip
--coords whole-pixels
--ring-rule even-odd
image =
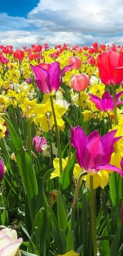
[[[65,159],[62,158],[62,169],[64,170],[68,163],[68,157]],[[50,179],[53,179],[55,177],[60,177],[60,164],[59,164],[59,158],[54,158],[53,160],[53,166],[55,170],[51,173]],[[81,167],[78,163],[74,166],[74,177],[78,179],[78,175],[82,172]]]

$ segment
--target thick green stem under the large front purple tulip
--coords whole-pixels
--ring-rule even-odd
[[[94,252],[94,256],[97,256],[96,218],[95,218],[95,204],[94,204],[93,175],[90,175],[90,207],[91,207],[93,252]]]

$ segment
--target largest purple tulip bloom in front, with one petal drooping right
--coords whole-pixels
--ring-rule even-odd
[[[101,138],[96,130],[87,136],[80,126],[71,127],[71,145],[76,149],[76,158],[81,168],[93,174],[103,169],[113,170],[123,177],[122,170],[109,164],[114,144],[121,139],[114,137],[116,132],[110,131]]]

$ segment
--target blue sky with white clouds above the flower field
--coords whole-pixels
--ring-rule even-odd
[[[123,45],[122,0],[4,0],[0,44]]]

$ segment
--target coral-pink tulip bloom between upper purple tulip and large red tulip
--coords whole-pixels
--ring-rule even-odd
[[[89,76],[86,74],[72,75],[70,85],[75,91],[84,91],[89,83]]]

